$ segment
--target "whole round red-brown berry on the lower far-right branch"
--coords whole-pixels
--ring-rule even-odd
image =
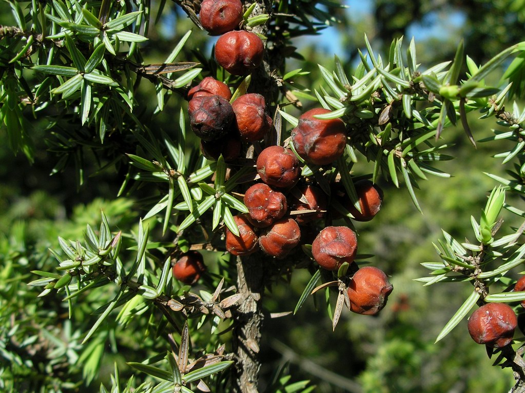
[[[468,318],[468,332],[478,344],[501,348],[509,345],[518,318],[506,303],[487,303]]]

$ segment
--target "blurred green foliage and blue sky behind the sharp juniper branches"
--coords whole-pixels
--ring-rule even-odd
[[[159,8],[159,1],[151,3],[152,9]],[[519,0],[358,0],[347,5],[349,8],[335,15],[340,23],[321,30],[314,39],[300,37],[294,41],[302,56],[297,59],[298,67],[310,71],[300,83],[319,86],[317,64],[331,59],[334,52],[345,69],[354,68],[358,49],[365,50],[364,33],[382,54],[393,38],[413,35],[419,60],[428,64],[452,59],[461,38],[465,39],[466,53],[482,63],[525,36],[525,2]],[[194,34],[180,58],[200,61],[210,56],[212,40],[193,27],[180,7],[167,2],[162,14],[153,16],[155,19],[158,23],[150,26],[150,40],[142,51],[145,63],[164,61],[191,28]],[[15,24],[9,3],[0,3],[0,25]],[[0,38],[4,36],[0,34]],[[164,110],[153,116],[155,95],[150,84],[141,84],[138,89],[135,98],[142,103],[141,121],[148,122],[151,129],[173,129],[173,114],[184,106],[183,100],[173,95]],[[52,112],[53,108],[43,110]],[[148,321],[147,316],[142,322],[135,321],[135,333],[119,347],[112,328],[107,330],[107,342],[80,347],[75,325],[79,321],[68,320],[60,296],[36,299],[38,291],[26,284],[33,279],[29,271],[46,270],[51,263],[48,248],[58,248],[58,236],[80,238],[87,224],[99,225],[100,209],[111,218],[112,227],[129,227],[144,212],[137,210],[135,199],[116,199],[120,187],[116,179],[127,171],[118,152],[107,154],[110,149],[106,145],[106,153],[99,156],[100,143],[86,129],[68,128],[67,116],[57,116],[53,132],[49,132],[49,124],[32,121],[29,113],[26,119],[34,157],[28,160],[21,152],[15,155],[7,143],[0,145],[0,389],[16,386],[18,391],[36,391],[40,386],[41,391],[93,391],[100,382],[108,383],[114,362],[120,365],[123,377],[134,373],[124,362],[140,350],[137,343],[151,340],[142,333],[153,331],[154,321]],[[494,125],[487,123],[471,119],[476,140],[490,135]],[[5,126],[2,135],[5,137]],[[294,317],[268,320],[261,344],[262,387],[270,386],[282,368],[288,368],[294,380],[310,379],[317,385],[316,391],[327,393],[503,392],[513,385],[512,371],[491,367],[485,348],[468,338],[466,321],[434,344],[443,325],[463,302],[466,288],[451,285],[445,292],[446,286],[427,288],[413,281],[425,274],[419,263],[436,259],[432,242],[440,237],[440,228],[447,228],[453,236],[470,232],[468,220],[458,217],[476,216],[485,205],[493,182],[482,172],[503,173],[499,160],[487,158],[501,151],[500,144],[478,144],[475,150],[463,131],[453,128],[445,130],[444,137],[447,144],[454,145],[447,154],[456,159],[442,169],[454,177],[421,183],[418,199],[423,215],[412,205],[406,190],[384,185],[381,214],[372,224],[358,226],[360,249],[373,253],[374,261],[392,275],[395,291],[390,306],[373,318],[343,315],[334,333],[328,318],[321,317],[322,311],[315,310],[312,302]],[[190,137],[188,143],[197,141]],[[65,145],[69,149],[67,160],[63,159]],[[135,198],[140,195],[139,190]],[[505,219],[511,223],[516,220],[510,214]],[[267,309],[293,310],[308,280],[306,271],[295,272],[289,287],[276,286],[266,301]],[[100,303],[98,299],[87,300]],[[75,314],[85,315],[81,307]],[[10,329],[15,318],[24,322],[24,330]],[[37,334],[41,330],[46,333]],[[107,354],[97,358],[101,348],[108,345]],[[150,348],[154,347],[151,344]],[[91,368],[85,367],[89,359],[100,363],[93,360]],[[6,367],[7,363],[15,366]],[[41,379],[30,380],[36,375]],[[86,385],[86,381],[92,384]]]

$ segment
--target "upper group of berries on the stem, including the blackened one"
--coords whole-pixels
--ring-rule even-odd
[[[215,45],[220,66],[237,76],[259,67],[264,56],[262,40],[250,31],[236,30],[244,20],[240,0],[204,0],[199,17],[209,34],[220,35]],[[230,104],[231,99],[228,86],[212,77],[188,92],[191,128],[209,160],[217,160],[221,154],[226,161],[234,160],[243,141],[258,141],[272,127],[262,95],[244,94]]]

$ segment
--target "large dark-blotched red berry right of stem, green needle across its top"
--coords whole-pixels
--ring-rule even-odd
[[[314,108],[299,117],[299,124],[291,137],[297,154],[309,164],[331,164],[343,155],[346,146],[346,129],[341,119],[322,120],[313,116],[329,113],[324,108]]]

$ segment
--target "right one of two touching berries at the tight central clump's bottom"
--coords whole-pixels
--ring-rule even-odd
[[[301,230],[296,220],[281,218],[263,230],[259,237],[259,246],[269,256],[284,258],[300,240]]]

